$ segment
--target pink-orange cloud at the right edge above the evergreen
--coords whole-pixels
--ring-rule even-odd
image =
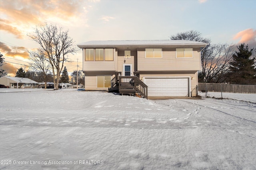
[[[250,28],[237,33],[233,39],[240,39],[239,43],[255,43],[256,30]]]

